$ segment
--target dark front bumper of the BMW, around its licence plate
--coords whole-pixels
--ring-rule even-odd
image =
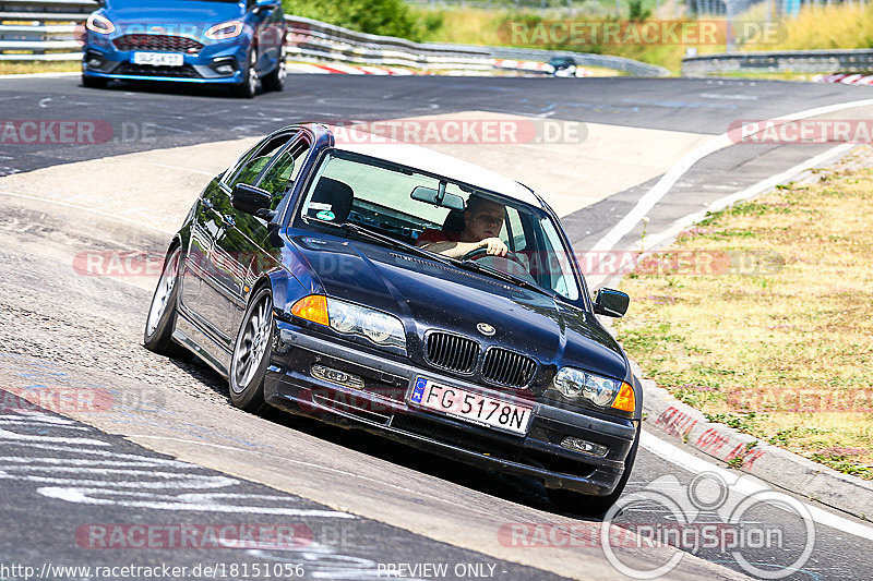
[[[494,397],[507,395],[326,340],[290,323],[278,320],[277,326],[264,383],[270,404],[366,429],[468,464],[535,477],[549,488],[610,494],[624,472],[624,461],[639,429],[636,421],[605,420],[533,401],[526,401],[534,406],[526,436],[430,413],[406,403],[409,387],[419,376]],[[313,377],[313,364],[357,375],[363,386],[348,387]],[[603,457],[595,457],[563,448],[560,443],[566,436],[609,450]]]

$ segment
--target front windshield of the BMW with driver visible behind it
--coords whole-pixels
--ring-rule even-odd
[[[438,197],[442,203],[434,199],[438,192],[443,193]],[[446,207],[450,201],[455,207]],[[334,150],[319,166],[298,216],[309,223],[351,222],[432,252],[470,241],[464,242],[466,250],[481,240],[480,247],[464,255],[447,254],[451,250],[445,253],[513,275],[570,301],[579,298],[570,254],[558,234],[560,227],[548,214],[445,178]],[[489,254],[495,238],[502,250]]]

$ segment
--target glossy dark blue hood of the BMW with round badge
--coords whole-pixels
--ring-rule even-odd
[[[409,355],[421,360],[428,329],[499,344],[545,365],[574,365],[625,378],[627,362],[590,313],[498,279],[366,242],[294,239],[321,291],[398,315]],[[494,327],[487,337],[479,323]]]

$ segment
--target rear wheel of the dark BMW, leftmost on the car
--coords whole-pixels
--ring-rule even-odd
[[[172,329],[176,328],[177,306],[179,298],[179,283],[181,281],[182,249],[170,246],[164,259],[164,268],[152,296],[148,307],[148,317],[145,319],[143,344],[150,351],[168,358],[179,358],[186,354],[182,346],[172,340]]]

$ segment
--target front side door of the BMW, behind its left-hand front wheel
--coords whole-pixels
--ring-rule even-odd
[[[236,325],[244,310],[243,282],[255,249],[241,229],[246,229],[253,216],[237,211],[230,204],[232,189],[238,183],[255,184],[270,160],[285,146],[298,130],[273,134],[262,141],[235,169],[231,175],[219,183],[219,191],[207,208],[207,223],[213,227],[211,246],[202,268],[202,285],[198,301],[199,315],[207,325],[218,350],[213,355],[224,360],[232,348]]]

